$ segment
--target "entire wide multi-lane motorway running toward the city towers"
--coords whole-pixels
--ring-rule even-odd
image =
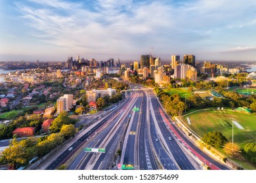
[[[194,170],[202,169],[203,161],[211,169],[228,169],[186,139],[152,91],[127,92],[126,96],[39,169],[56,169],[65,163],[66,169],[121,169],[119,164],[144,170]],[[85,152],[85,148],[104,148],[105,152]]]

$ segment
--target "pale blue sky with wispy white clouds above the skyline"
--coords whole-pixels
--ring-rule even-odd
[[[0,0],[0,61],[256,62],[255,0]]]

